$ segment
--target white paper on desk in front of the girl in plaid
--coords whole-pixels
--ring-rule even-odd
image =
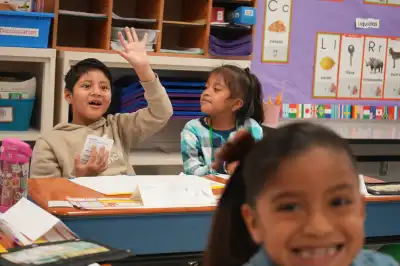
[[[211,186],[192,182],[159,182],[138,185],[144,207],[214,206]]]

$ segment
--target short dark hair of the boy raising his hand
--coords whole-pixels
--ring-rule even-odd
[[[78,82],[83,74],[86,74],[90,70],[100,70],[108,78],[110,83],[112,82],[111,72],[104,63],[95,58],[86,58],[79,61],[76,65],[71,66],[64,78],[65,88],[73,93],[76,82]]]

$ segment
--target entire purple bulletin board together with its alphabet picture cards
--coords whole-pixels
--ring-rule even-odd
[[[257,11],[264,14],[257,16],[251,69],[265,97],[283,92],[288,104],[400,104],[400,0],[266,0]],[[272,27],[276,21],[283,23]],[[374,23],[357,27],[357,21]]]

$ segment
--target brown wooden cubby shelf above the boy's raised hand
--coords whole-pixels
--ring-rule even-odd
[[[158,31],[156,55],[214,58],[208,52],[210,33],[228,36],[252,34],[254,28],[211,26],[213,6],[232,11],[240,5],[256,6],[257,0],[47,0],[54,12],[52,47],[63,51],[111,52],[112,27],[130,26]],[[72,14],[71,11],[80,12]],[[171,49],[197,48],[202,54],[171,53]],[[248,60],[251,56],[224,57]]]

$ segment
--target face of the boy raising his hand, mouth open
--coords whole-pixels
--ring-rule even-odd
[[[91,124],[99,120],[111,103],[111,84],[100,70],[90,70],[75,84],[73,93],[65,90],[72,105],[73,123]]]

